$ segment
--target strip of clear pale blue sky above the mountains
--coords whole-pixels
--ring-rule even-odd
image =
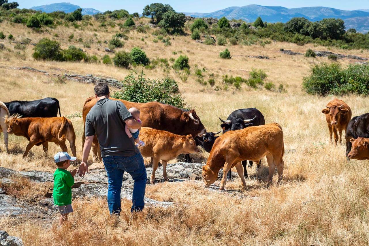
[[[9,0],[13,1],[13,0]],[[30,8],[33,6],[39,6],[50,3],[68,2],[68,0],[18,0],[20,8]],[[311,6],[324,6],[339,8],[342,10],[357,10],[362,8],[369,8],[369,0],[254,0],[254,1],[237,1],[237,0],[176,0],[176,1],[156,1],[156,0],[70,0],[70,3],[81,6],[82,8],[95,8],[100,11],[126,9],[130,13],[139,12],[142,13],[142,9],[146,4],[150,3],[168,3],[176,11],[182,12],[213,12],[223,8],[231,6],[245,6],[248,4],[259,4],[264,6],[283,6],[287,8],[297,7],[311,7]]]

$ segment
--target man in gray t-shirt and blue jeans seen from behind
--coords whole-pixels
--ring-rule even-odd
[[[88,172],[87,158],[96,134],[108,174],[110,214],[119,215],[121,211],[120,192],[124,171],[135,181],[131,212],[141,211],[145,205],[146,168],[133,137],[129,138],[124,130],[126,124],[132,129],[139,129],[141,122],[132,117],[122,102],[109,99],[110,92],[105,83],[97,83],[94,90],[97,102],[86,116],[86,141],[78,173],[82,177]]]

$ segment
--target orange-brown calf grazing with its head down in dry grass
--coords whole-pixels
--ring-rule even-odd
[[[242,184],[245,186],[241,161],[251,160],[259,163],[264,156],[266,156],[269,165],[268,185],[272,183],[276,167],[278,169],[278,182],[281,182],[284,165],[283,155],[283,131],[277,123],[228,131],[215,140],[207,163],[203,166],[205,185],[213,184],[218,177],[220,168],[223,168],[223,178],[219,189],[224,189],[227,172],[232,167],[236,167]]]

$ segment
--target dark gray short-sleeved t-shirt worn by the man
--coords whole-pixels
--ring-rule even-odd
[[[124,104],[118,100],[100,99],[86,116],[85,136],[96,134],[101,157],[133,156],[135,148],[133,137],[125,133],[124,121],[133,118]]]

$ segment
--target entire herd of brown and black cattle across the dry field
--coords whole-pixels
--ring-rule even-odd
[[[283,131],[277,123],[265,124],[265,118],[258,109],[238,109],[232,112],[227,120],[219,118],[222,130],[213,133],[206,131],[195,110],[179,109],[159,102],[120,101],[127,108],[136,107],[141,111],[140,139],[146,144],[139,149],[142,156],[152,158],[151,183],[155,181],[159,161],[162,161],[163,177],[166,179],[168,161],[179,154],[186,154],[187,161],[191,162],[189,154],[198,153],[197,146],[210,153],[202,170],[206,185],[213,184],[218,172],[223,168],[220,189],[224,189],[232,167],[236,168],[242,184],[246,185],[244,179],[248,175],[246,160],[249,160],[249,167],[253,161],[258,163],[256,169],[258,170],[264,156],[269,166],[268,184],[272,182],[275,168],[278,170],[278,181],[282,181]],[[95,103],[95,97],[86,99],[82,110],[83,123]],[[345,130],[346,156],[358,160],[369,159],[369,113],[351,119],[351,108],[339,99],[330,101],[325,107],[322,112],[327,120],[330,140],[334,134],[335,143],[341,143],[342,131]],[[60,117],[57,117],[58,111]],[[8,151],[8,133],[28,139],[24,158],[34,145],[42,145],[46,154],[48,142],[59,145],[62,151],[68,151],[65,144],[67,139],[73,156],[76,156],[73,124],[66,117],[61,117],[59,101],[55,98],[30,102],[0,102],[0,133],[1,131],[4,132],[6,151]],[[223,132],[221,136],[215,136],[221,132]],[[83,134],[82,146],[84,142]],[[101,159],[96,137],[92,147],[94,160]]]

